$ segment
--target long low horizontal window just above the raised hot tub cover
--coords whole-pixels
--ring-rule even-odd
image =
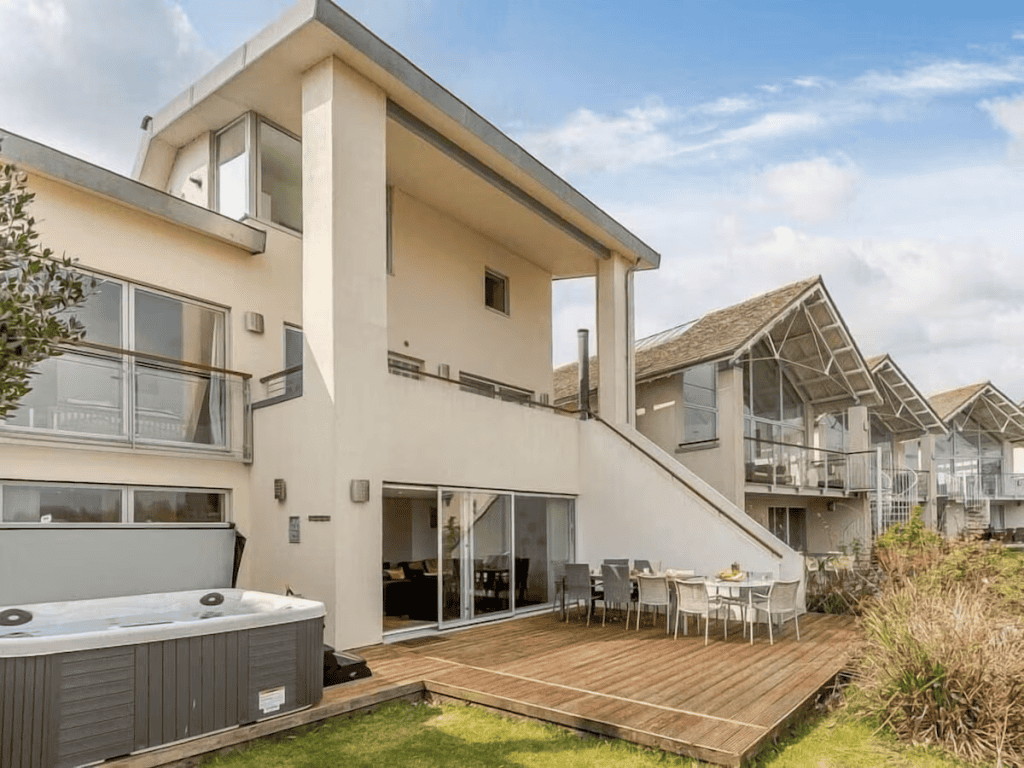
[[[17,523],[213,523],[227,519],[227,494],[200,488],[3,483],[0,520]]]

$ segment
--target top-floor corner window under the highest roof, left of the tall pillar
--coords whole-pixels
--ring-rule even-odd
[[[302,144],[298,137],[248,113],[216,134],[214,156],[217,211],[302,231]]]

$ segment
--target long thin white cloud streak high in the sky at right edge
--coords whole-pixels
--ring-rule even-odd
[[[1024,59],[999,63],[936,61],[901,73],[868,72],[853,85],[867,92],[900,96],[964,93],[997,85],[1024,82]]]

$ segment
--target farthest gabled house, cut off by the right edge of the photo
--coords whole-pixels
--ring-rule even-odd
[[[1024,410],[987,381],[929,401],[948,433],[909,443],[907,463],[932,477],[930,521],[948,536],[1024,526],[1024,474],[1014,472]]]

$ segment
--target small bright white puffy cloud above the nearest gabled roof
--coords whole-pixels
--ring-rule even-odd
[[[849,164],[817,158],[775,166],[760,174],[755,186],[765,197],[765,209],[817,224],[835,219],[849,208],[859,176]]]

